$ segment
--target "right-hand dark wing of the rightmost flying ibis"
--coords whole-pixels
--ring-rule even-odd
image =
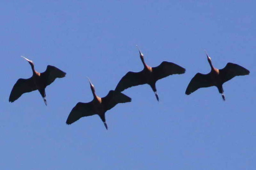
[[[222,82],[227,82],[235,76],[249,75],[250,71],[234,63],[227,63],[223,69],[219,69]]]

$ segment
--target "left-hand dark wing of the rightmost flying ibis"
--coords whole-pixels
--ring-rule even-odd
[[[189,85],[186,89],[185,94],[189,95],[193,93],[198,88],[207,88],[213,86],[210,74],[204,75],[197,73],[192,80],[189,82]]]

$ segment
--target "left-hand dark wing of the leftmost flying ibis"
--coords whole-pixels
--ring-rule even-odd
[[[22,94],[32,92],[34,90],[36,90],[36,87],[32,77],[28,79],[20,78],[13,86],[9,101],[16,101]]]

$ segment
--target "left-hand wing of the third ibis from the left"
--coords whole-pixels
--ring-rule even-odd
[[[145,83],[146,83],[146,80],[143,76],[142,71],[137,73],[129,71],[125,76],[121,78],[121,80],[119,81],[119,83],[115,88],[115,91],[122,92],[127,88],[138,86]]]

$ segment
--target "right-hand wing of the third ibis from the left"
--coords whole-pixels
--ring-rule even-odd
[[[183,74],[186,71],[183,67],[166,61],[157,67],[152,67],[152,70],[156,81],[173,74]]]

